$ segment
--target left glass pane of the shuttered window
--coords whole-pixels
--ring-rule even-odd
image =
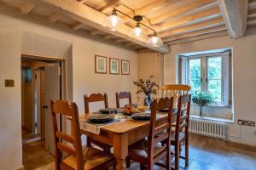
[[[201,92],[201,59],[189,59],[189,85],[192,94]]]

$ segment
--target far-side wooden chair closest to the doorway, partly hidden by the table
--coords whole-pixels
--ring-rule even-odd
[[[89,108],[89,104],[90,103],[95,103],[95,102],[104,102],[104,106],[105,108],[108,108],[108,95],[107,94],[84,94],[84,111],[85,114],[89,114],[90,113],[90,108]],[[109,146],[108,144],[102,144],[94,139],[88,138],[87,137],[87,145],[91,145],[92,144],[96,144],[97,146],[99,146],[100,148],[102,148],[104,151],[106,152],[110,152],[110,148],[111,146]]]

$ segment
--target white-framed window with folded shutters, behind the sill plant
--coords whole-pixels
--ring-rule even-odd
[[[180,83],[189,84],[191,94],[212,94],[213,105],[231,105],[230,50],[218,54],[180,57]]]

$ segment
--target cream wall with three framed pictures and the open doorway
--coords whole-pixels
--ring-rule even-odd
[[[55,57],[67,54],[67,58],[72,56],[72,59],[68,58],[67,64],[69,71],[67,80],[72,82],[67,86],[67,96],[78,104],[81,114],[84,113],[84,94],[108,93],[110,107],[115,106],[114,93],[119,90],[130,90],[133,99],[136,99],[134,93],[137,88],[132,84],[137,80],[136,52],[3,14],[0,14],[0,26],[1,169],[13,170],[22,167],[20,94],[20,55],[22,53]],[[51,42],[53,39],[55,41]],[[44,45],[55,48],[44,48]],[[61,53],[55,49],[61,49]],[[66,49],[67,53],[64,53]],[[130,76],[96,74],[94,72],[95,54],[130,60]],[[5,78],[14,79],[15,88],[4,88]]]

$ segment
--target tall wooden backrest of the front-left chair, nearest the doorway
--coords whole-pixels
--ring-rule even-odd
[[[79,111],[75,103],[67,101],[51,101],[53,133],[55,137],[55,169],[73,169],[61,161],[62,152],[73,156],[77,161],[77,169],[84,169],[84,156],[82,151],[81,133],[79,127]],[[57,124],[57,116],[70,116],[71,134],[62,132]]]

